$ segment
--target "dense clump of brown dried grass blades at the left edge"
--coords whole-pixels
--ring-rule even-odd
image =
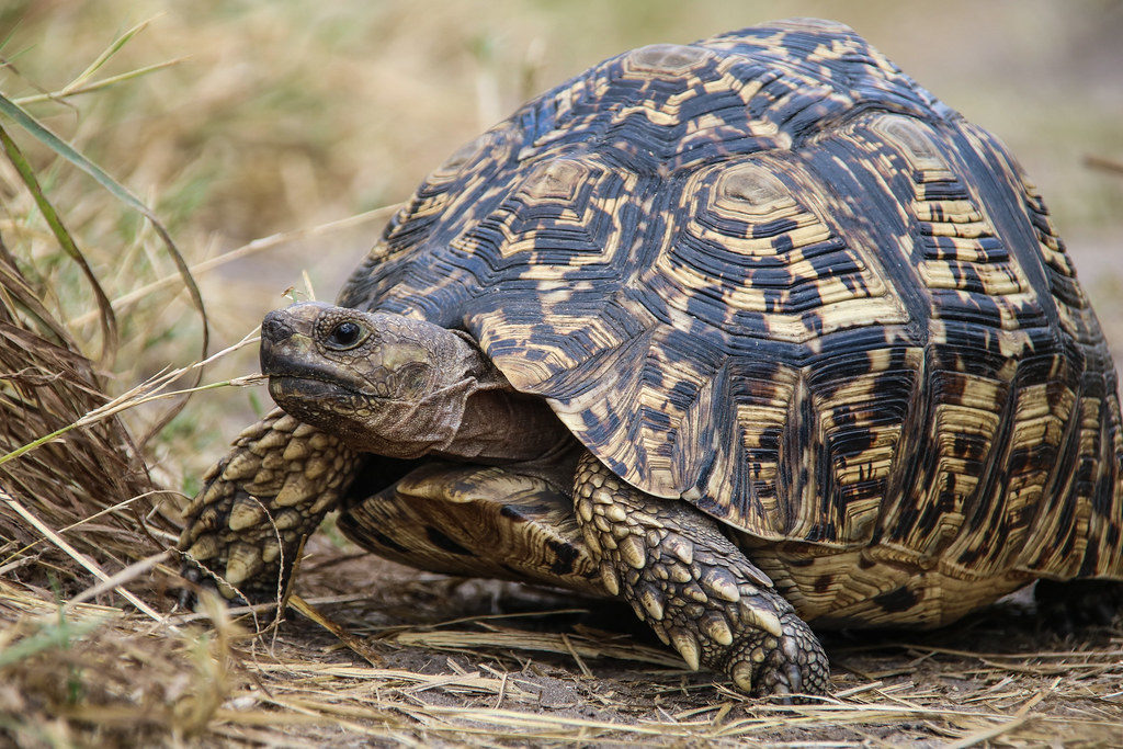
[[[103,405],[103,392],[90,360],[0,241],[0,491],[116,570],[162,548],[154,531],[174,531],[152,512],[158,487],[124,424],[110,417],[3,457]],[[54,577],[67,593],[90,583],[10,502],[0,502],[0,574],[37,586]]]

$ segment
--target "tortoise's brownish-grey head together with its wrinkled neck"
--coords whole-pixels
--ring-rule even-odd
[[[303,303],[266,317],[261,356],[281,408],[362,451],[500,465],[576,449],[545,400],[511,387],[466,334]]]

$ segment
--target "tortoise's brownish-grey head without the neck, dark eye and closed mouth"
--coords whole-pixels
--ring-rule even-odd
[[[261,363],[273,400],[293,417],[398,458],[450,444],[492,371],[465,334],[319,302],[265,316]]]

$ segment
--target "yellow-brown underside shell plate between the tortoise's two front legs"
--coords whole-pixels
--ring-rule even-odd
[[[428,464],[351,504],[339,529],[419,569],[605,595],[569,497],[509,467]]]

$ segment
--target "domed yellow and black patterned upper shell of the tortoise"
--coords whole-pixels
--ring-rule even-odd
[[[843,26],[642,47],[530,101],[340,303],[468,331],[622,478],[750,538],[1123,577],[1116,375],[1041,198]]]

